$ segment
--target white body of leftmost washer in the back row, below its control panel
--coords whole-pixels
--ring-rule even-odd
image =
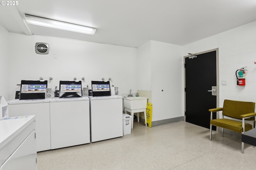
[[[36,149],[51,149],[50,99],[29,99],[8,101],[9,117],[36,115]]]

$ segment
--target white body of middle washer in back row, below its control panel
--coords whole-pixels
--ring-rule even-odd
[[[88,97],[50,100],[51,149],[90,143]]]

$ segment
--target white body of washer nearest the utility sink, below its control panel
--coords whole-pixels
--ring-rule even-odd
[[[91,141],[123,136],[122,96],[89,98]]]

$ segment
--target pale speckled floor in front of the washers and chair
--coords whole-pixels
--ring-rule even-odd
[[[134,122],[120,138],[38,152],[38,170],[255,170],[256,148],[184,121],[153,128]]]

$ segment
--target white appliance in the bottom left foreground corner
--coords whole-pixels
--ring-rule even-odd
[[[35,116],[0,121],[0,169],[35,170]]]

